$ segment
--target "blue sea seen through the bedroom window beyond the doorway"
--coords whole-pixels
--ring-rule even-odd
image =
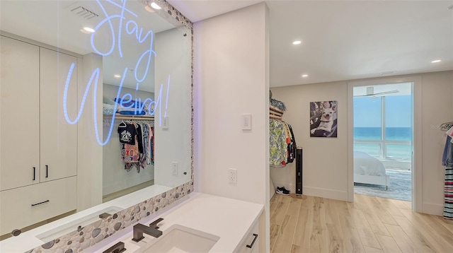
[[[411,143],[392,143],[392,141],[411,141],[411,127],[386,127],[385,149],[380,148],[382,133],[380,127],[355,127],[355,141],[379,141],[376,143],[354,143],[355,151],[362,151],[377,158],[410,159],[412,154]]]

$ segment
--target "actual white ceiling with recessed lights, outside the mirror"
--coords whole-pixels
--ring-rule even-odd
[[[167,1],[193,22],[260,2]],[[265,2],[270,87],[453,70],[452,0]]]

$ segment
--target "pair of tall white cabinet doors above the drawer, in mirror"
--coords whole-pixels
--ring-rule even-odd
[[[0,45],[0,190],[76,175],[77,125],[63,112],[65,76],[76,57],[3,36]],[[76,78],[71,82],[74,105]]]

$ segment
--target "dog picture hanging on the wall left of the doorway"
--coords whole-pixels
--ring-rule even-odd
[[[310,136],[337,137],[337,101],[310,102]]]

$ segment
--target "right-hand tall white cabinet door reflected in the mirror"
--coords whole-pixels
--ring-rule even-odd
[[[76,175],[77,124],[64,117],[64,86],[76,57],[40,48],[41,182]],[[74,68],[67,93],[69,118],[76,118],[77,68]]]

